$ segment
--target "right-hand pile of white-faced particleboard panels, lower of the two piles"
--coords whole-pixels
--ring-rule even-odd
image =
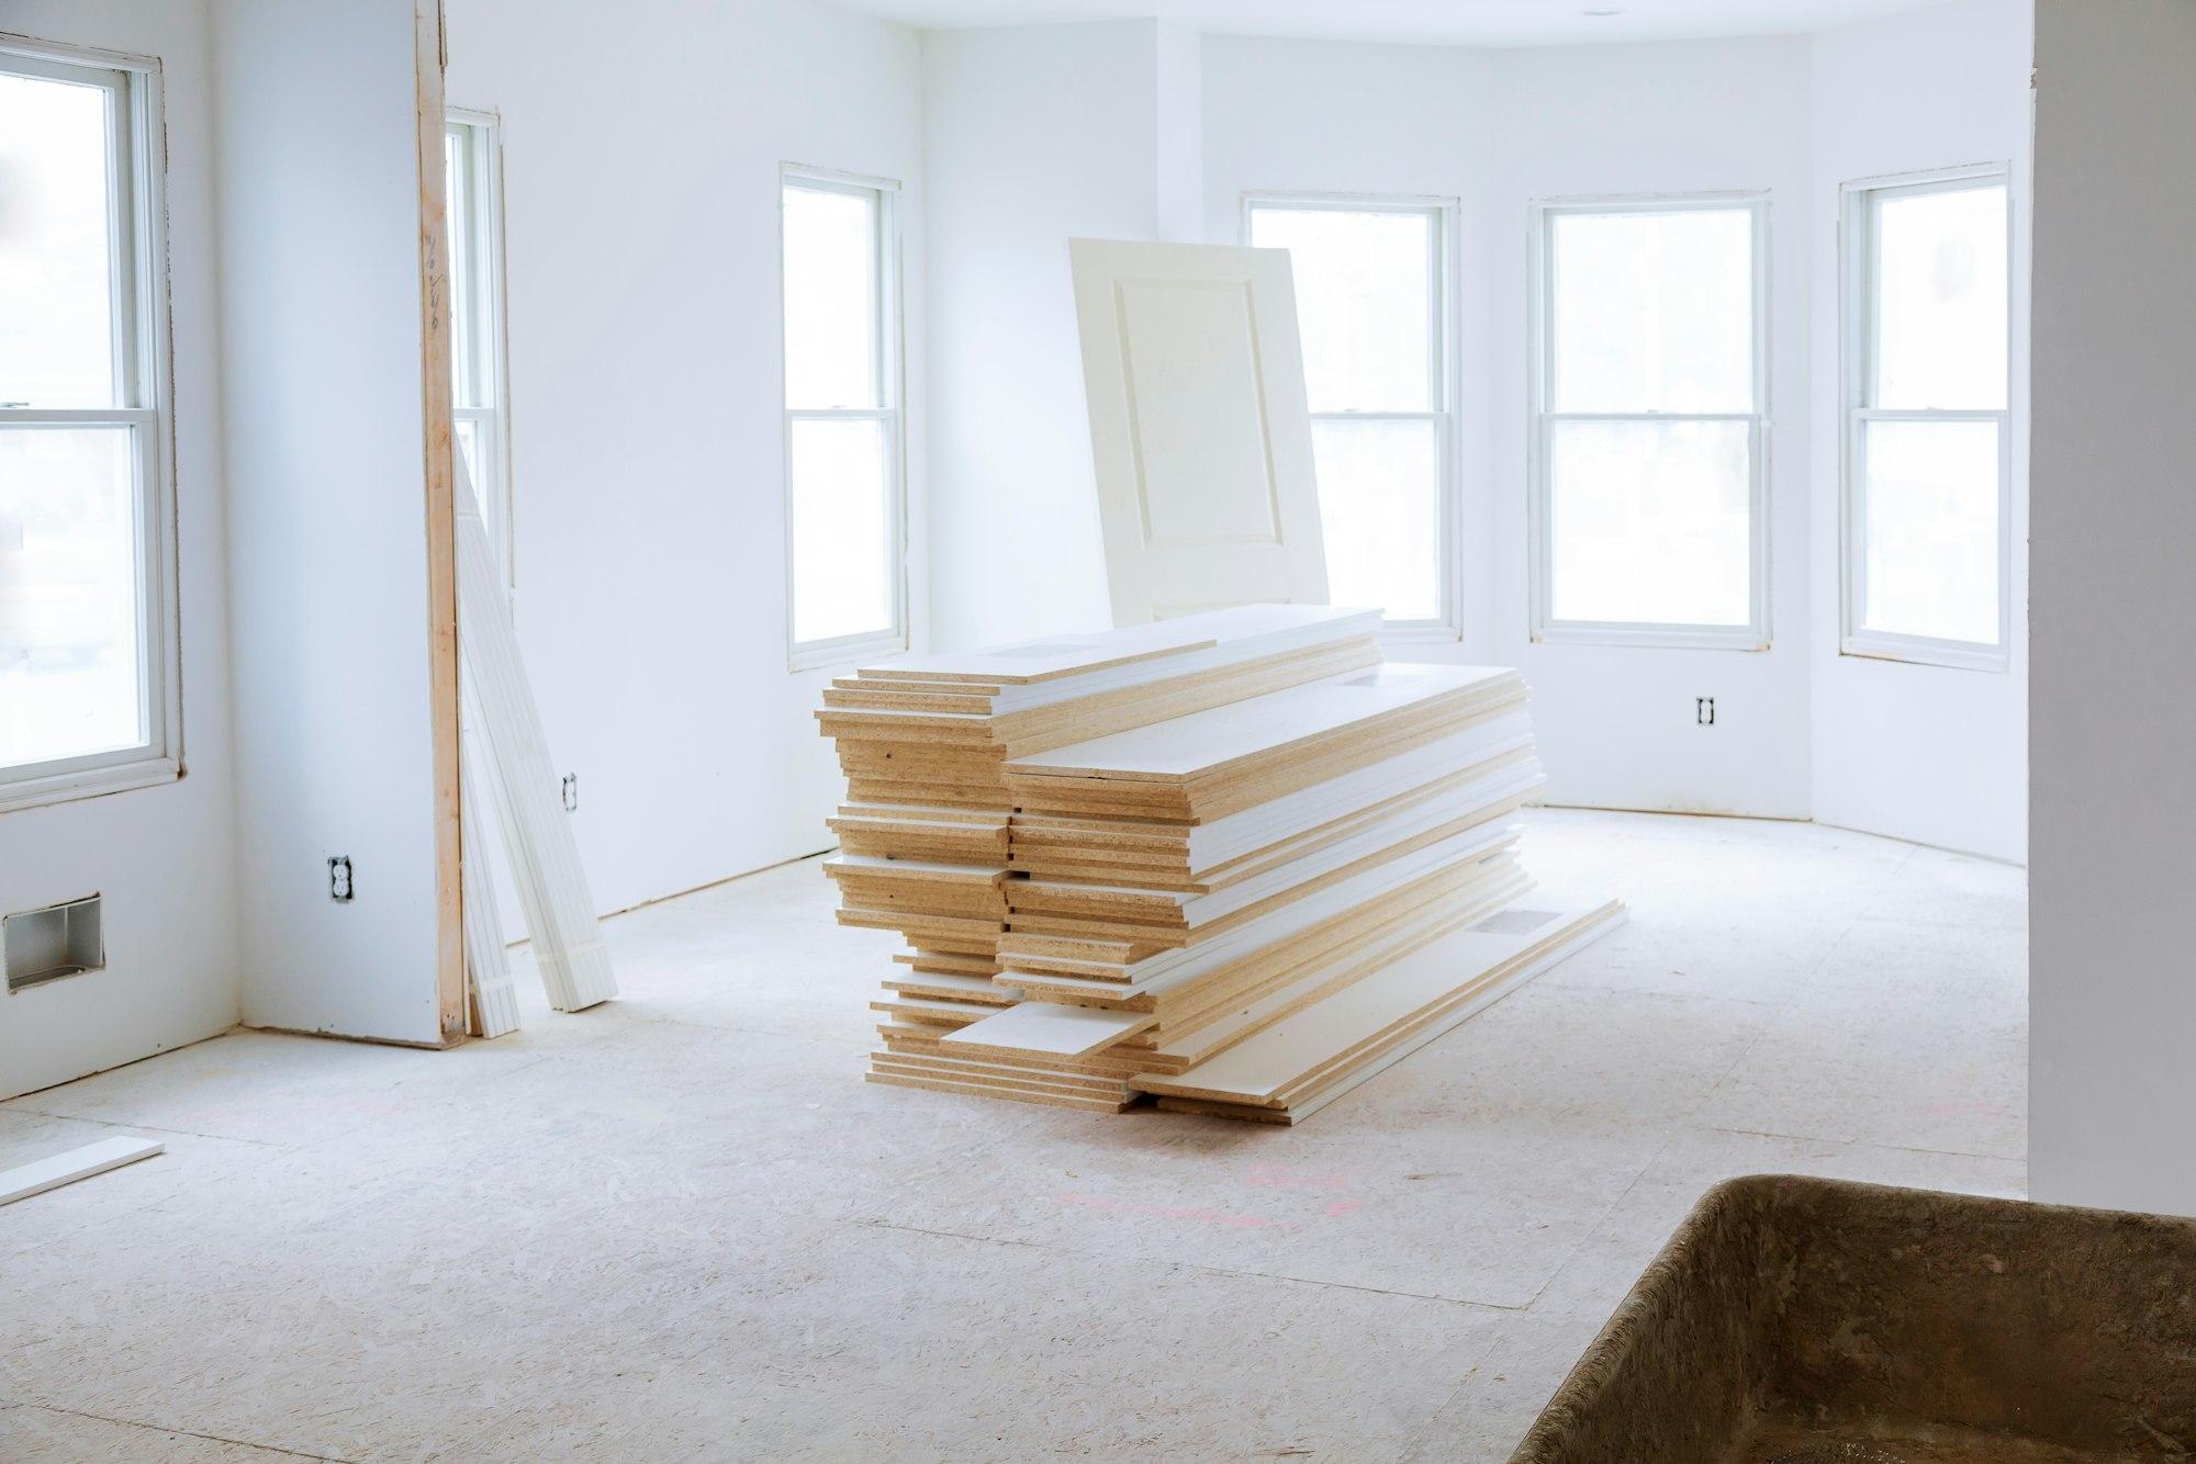
[[[1524,685],[1388,665],[1006,764],[1023,1001],[927,1043],[933,1076],[1122,1106],[1528,889]],[[964,1065],[955,1069],[955,1065]]]

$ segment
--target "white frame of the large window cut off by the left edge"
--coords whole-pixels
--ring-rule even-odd
[[[112,140],[108,211],[116,382],[125,406],[0,406],[0,430],[127,426],[136,446],[141,709],[136,746],[0,768],[0,812],[152,788],[182,777],[182,632],[176,599],[176,439],[169,382],[167,198],[160,61],[90,46],[0,35],[0,68],[108,88],[121,125]],[[103,75],[101,75],[103,72]]]

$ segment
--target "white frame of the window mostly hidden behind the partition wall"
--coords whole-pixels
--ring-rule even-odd
[[[512,351],[505,327],[503,290],[503,116],[474,108],[446,108],[444,134],[457,134],[466,147],[470,189],[459,200],[466,209],[466,237],[472,244],[466,268],[479,281],[474,292],[472,340],[481,349],[481,395],[490,406],[457,406],[452,393],[450,421],[474,424],[474,435],[488,441],[488,483],[474,483],[481,518],[496,547],[505,593],[518,590],[518,509],[512,498]],[[457,266],[457,261],[452,261]]]

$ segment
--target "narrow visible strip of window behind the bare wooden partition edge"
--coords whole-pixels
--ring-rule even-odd
[[[503,349],[503,147],[492,112],[450,108],[441,132],[450,226],[450,428],[481,500],[505,586],[512,549],[509,415]]]

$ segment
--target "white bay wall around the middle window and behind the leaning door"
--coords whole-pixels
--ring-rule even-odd
[[[1557,803],[1807,814],[1805,37],[1469,50],[1208,35],[1206,228],[1261,189],[1460,206],[1465,639],[1397,654],[1502,661],[1535,694]],[[1526,637],[1526,211],[1550,195],[1770,193],[1768,652]],[[1717,700],[1695,727],[1693,698]]]

